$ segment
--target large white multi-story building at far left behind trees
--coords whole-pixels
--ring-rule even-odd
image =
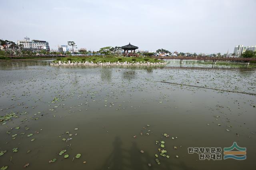
[[[40,41],[40,40],[32,40],[30,41],[28,37],[24,40],[18,41],[18,46],[22,45],[22,49],[24,50],[41,50],[45,49],[50,51],[49,43],[47,41]]]

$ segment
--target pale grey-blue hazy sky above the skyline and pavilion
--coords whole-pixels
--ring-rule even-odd
[[[75,41],[97,51],[131,42],[196,53],[256,45],[256,0],[0,0],[0,39]]]

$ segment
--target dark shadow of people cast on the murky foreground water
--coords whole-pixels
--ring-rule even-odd
[[[122,148],[120,137],[115,137],[113,142],[113,151],[109,154],[106,161],[99,170],[196,170],[185,165],[183,161],[179,163],[172,162],[172,158],[159,158],[161,164],[156,164],[155,156],[151,156],[147,151],[140,153],[136,142],[132,143],[130,150]],[[174,158],[173,158],[174,159]],[[148,163],[152,166],[149,167]]]

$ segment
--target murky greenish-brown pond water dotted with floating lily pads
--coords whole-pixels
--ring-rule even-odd
[[[17,116],[0,123],[0,150],[7,150],[0,156],[0,167],[16,170],[29,163],[28,169],[37,170],[255,169],[256,96],[220,91],[256,93],[255,74],[253,66],[212,68],[201,61],[184,61],[182,67],[179,61],[168,61],[165,67],[2,62],[0,115]],[[165,142],[170,158],[160,156],[156,141]],[[223,152],[222,160],[188,154],[188,147],[223,149],[235,141],[246,147],[246,160],[223,160]],[[18,152],[12,152],[14,148]],[[59,155],[61,150],[66,152]],[[78,153],[81,157],[74,158]],[[49,163],[54,158],[56,162]]]

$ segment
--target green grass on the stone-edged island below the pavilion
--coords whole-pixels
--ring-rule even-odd
[[[85,62],[85,61],[93,61],[94,63],[97,62],[102,62],[102,63],[106,63],[106,62],[111,62],[111,63],[115,63],[115,62],[164,62],[162,60],[159,59],[153,59],[153,58],[144,58],[144,57],[63,57],[63,58],[59,58],[57,60],[55,60],[54,62],[58,62],[58,61],[70,61],[70,62]]]

